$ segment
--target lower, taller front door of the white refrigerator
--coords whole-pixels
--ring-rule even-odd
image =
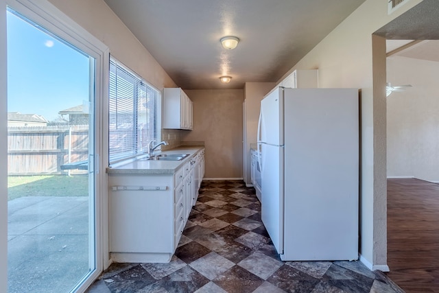
[[[278,253],[283,253],[283,148],[262,144],[261,218]]]

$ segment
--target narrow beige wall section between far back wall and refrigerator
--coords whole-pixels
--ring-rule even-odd
[[[246,145],[243,149],[243,176],[244,181],[247,184],[251,184],[250,171],[251,171],[251,158],[250,158],[250,145],[257,142],[257,130],[259,121],[259,111],[261,110],[261,99],[271,91],[275,82],[246,82],[244,86],[244,99],[245,99],[245,121],[246,126],[244,129],[244,143]]]

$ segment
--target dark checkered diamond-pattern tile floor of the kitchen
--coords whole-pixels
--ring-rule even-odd
[[[113,263],[97,292],[401,292],[359,261],[281,261],[254,189],[203,181],[170,263]]]

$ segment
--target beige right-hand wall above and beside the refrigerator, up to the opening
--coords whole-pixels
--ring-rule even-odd
[[[388,15],[387,1],[366,0],[288,72],[317,68],[319,87],[361,89],[360,253],[364,263],[380,270],[388,269],[385,42],[375,38],[372,44],[372,34],[418,3],[408,1]]]

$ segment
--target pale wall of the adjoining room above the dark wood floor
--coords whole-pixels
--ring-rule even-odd
[[[387,80],[412,88],[387,98],[387,175],[439,182],[439,62],[390,56]]]

